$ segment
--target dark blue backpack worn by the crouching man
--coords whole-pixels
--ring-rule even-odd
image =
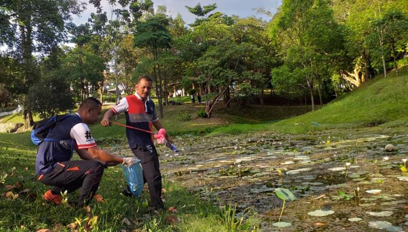
[[[70,114],[55,115],[35,123],[33,126],[33,131],[31,132],[31,140],[33,143],[35,145],[40,145],[43,141],[59,141],[56,139],[48,139],[47,135],[56,125],[60,124],[61,121],[69,116]]]

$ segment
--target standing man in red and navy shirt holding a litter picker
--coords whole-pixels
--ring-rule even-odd
[[[152,80],[148,76],[141,76],[137,80],[136,93],[120,100],[119,105],[108,110],[102,121],[103,126],[109,126],[109,119],[114,114],[125,113],[126,125],[143,130],[152,131],[152,125],[157,130],[163,128],[157,116],[154,102],[150,99]],[[143,168],[144,182],[147,182],[150,192],[150,207],[155,210],[164,208],[162,201],[162,176],[159,168],[159,157],[154,145],[153,135],[126,127],[126,137],[132,152],[140,160]],[[172,143],[170,136],[165,135],[167,145]],[[125,196],[131,196],[129,189],[123,190]]]

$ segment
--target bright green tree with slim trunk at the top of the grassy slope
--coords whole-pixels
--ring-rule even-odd
[[[333,11],[326,0],[284,0],[275,23],[275,33],[286,50],[284,70],[290,70],[287,78],[307,89],[314,110],[314,90],[322,79],[319,67],[330,62],[342,44],[342,33]],[[288,72],[281,72],[288,74]],[[272,78],[279,78],[276,75]],[[275,82],[276,84],[276,82]]]

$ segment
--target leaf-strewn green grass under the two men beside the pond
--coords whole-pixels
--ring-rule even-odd
[[[126,183],[119,166],[105,170],[103,179],[98,189],[98,194],[103,196],[104,202],[91,203],[91,215],[85,210],[73,210],[67,205],[54,205],[46,203],[42,194],[47,186],[35,181],[35,149],[32,147],[5,146],[0,149],[0,176],[8,174],[5,182],[0,184],[0,231],[36,231],[37,229],[55,229],[55,231],[68,231],[66,225],[75,222],[75,218],[85,220],[87,217],[97,216],[92,231],[251,231],[258,225],[257,221],[248,220],[237,230],[231,230],[231,225],[226,224],[225,213],[212,202],[201,201],[197,195],[189,194],[180,184],[165,179],[163,184],[167,190],[163,195],[166,207],[174,207],[178,212],[171,213],[167,210],[159,214],[148,210],[145,201],[148,199],[146,191],[141,199],[119,195]],[[76,156],[76,155],[75,155]],[[14,167],[14,168],[13,168]],[[6,190],[6,186],[17,188]],[[25,190],[26,192],[21,192]],[[15,199],[6,198],[6,192],[18,194]],[[68,201],[75,200],[78,191],[68,195]],[[166,220],[175,217],[172,225]],[[128,219],[131,225],[126,225],[123,220]],[[84,221],[86,222],[86,220]],[[231,223],[231,222],[230,222]],[[60,229],[56,229],[61,226]],[[81,231],[81,228],[78,228]],[[85,231],[85,230],[83,230]],[[91,230],[88,230],[91,231]],[[139,230],[137,230],[139,231]]]

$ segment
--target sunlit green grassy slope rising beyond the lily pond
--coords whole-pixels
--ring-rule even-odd
[[[272,131],[304,134],[336,128],[408,125],[408,66],[400,75],[378,76],[360,88],[330,102],[320,110],[286,120],[262,122],[256,125],[232,124],[214,130],[212,135]]]

